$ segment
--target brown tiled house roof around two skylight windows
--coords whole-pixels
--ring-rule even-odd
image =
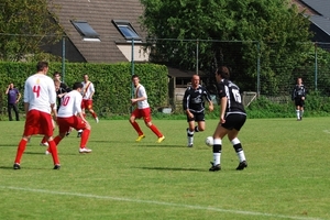
[[[143,8],[139,0],[56,0],[58,23],[65,34],[88,63],[117,63],[128,61],[117,47],[125,38],[112,20],[129,21],[140,36],[144,32],[139,23]],[[72,21],[86,21],[99,34],[100,42],[82,41]]]

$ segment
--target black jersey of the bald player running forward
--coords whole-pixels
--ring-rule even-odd
[[[199,113],[205,111],[205,100],[211,101],[211,97],[208,90],[199,85],[196,89],[191,86],[185,91],[183,107],[184,110],[189,109],[189,111]]]

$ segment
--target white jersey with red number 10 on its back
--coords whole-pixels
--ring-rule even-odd
[[[57,117],[68,118],[81,112],[81,94],[77,90],[72,90],[64,96]]]

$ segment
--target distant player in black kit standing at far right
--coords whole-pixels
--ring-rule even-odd
[[[295,106],[296,106],[297,121],[302,120],[306,94],[307,94],[307,90],[302,84],[302,79],[301,79],[301,77],[298,77],[297,85],[295,86],[295,88],[293,90],[293,96],[292,96],[292,99],[293,99],[293,101],[295,101]]]

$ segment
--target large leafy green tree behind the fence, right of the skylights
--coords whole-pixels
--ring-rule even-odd
[[[299,14],[288,0],[141,2],[145,8],[141,21],[148,38],[153,38],[150,44],[153,62],[191,70],[198,65],[210,73],[215,66],[226,64],[232,68],[233,77],[244,78],[240,85],[244,90],[256,89],[249,81],[256,81],[256,61],[261,57],[261,77],[272,79],[262,90],[276,92],[280,80],[273,79],[290,76],[304,58],[301,52],[308,50],[301,42],[311,37],[308,18]],[[280,69],[275,68],[279,66]]]

